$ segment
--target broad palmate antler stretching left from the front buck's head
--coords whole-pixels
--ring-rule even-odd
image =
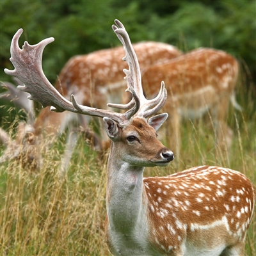
[[[134,115],[134,111],[138,111],[140,104],[121,114],[114,111],[81,106],[77,103],[74,95],[71,95],[72,102],[65,99],[48,81],[42,70],[44,47],[54,41],[54,38],[47,38],[36,45],[29,45],[28,42],[25,42],[22,49],[20,49],[18,41],[22,31],[22,29],[17,31],[11,44],[12,57],[10,61],[13,63],[14,70],[5,68],[4,72],[10,76],[17,77],[24,83],[23,86],[18,86],[18,88],[31,94],[28,99],[38,101],[44,108],[51,106],[52,111],[62,112],[68,110],[83,115],[106,116],[119,123],[127,122],[131,115]],[[132,94],[134,95],[135,93],[132,92]],[[138,102],[136,95],[133,98]]]

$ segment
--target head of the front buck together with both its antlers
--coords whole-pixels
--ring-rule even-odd
[[[154,99],[146,99],[141,84],[140,65],[132,48],[131,40],[124,25],[115,20],[112,26],[116,35],[124,45],[125,57],[129,69],[124,69],[127,81],[126,92],[131,93],[132,99],[128,104],[112,104],[108,106],[126,109],[125,113],[91,108],[80,105],[71,95],[71,101],[65,99],[45,77],[42,70],[42,54],[47,44],[54,38],[47,38],[36,45],[25,42],[20,49],[18,41],[22,34],[19,29],[13,36],[10,60],[14,70],[4,69],[6,74],[16,76],[24,83],[18,88],[31,95],[29,99],[38,101],[43,107],[51,106],[52,111],[65,110],[83,115],[104,118],[109,138],[113,141],[113,155],[132,166],[166,166],[173,159],[173,153],[156,138],[156,130],[163,124],[167,114],[154,116],[163,108],[167,99],[167,91],[162,81],[158,95]],[[33,65],[31,65],[31,63]],[[152,116],[151,118],[148,118]]]

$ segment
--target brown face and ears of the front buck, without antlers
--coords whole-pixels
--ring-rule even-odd
[[[135,117],[129,124],[120,125],[104,118],[106,131],[113,141],[115,154],[134,166],[167,166],[173,160],[173,152],[157,139],[157,129],[166,119],[165,115],[154,116],[147,121]]]

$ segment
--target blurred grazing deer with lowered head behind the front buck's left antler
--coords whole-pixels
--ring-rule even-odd
[[[143,68],[154,63],[165,63],[168,60],[180,56],[176,47],[160,42],[140,42],[133,45],[136,54]],[[104,49],[86,55],[74,56],[60,72],[55,87],[60,90],[64,97],[69,97],[71,93],[79,93],[79,101],[95,108],[105,108],[107,102],[122,99],[122,88],[125,88],[124,74],[122,70],[127,68],[127,64],[120,59],[124,54],[122,46],[113,49]],[[20,81],[15,81],[20,83]],[[17,87],[8,82],[4,82],[7,92],[1,93],[1,99],[13,101],[15,106],[25,109],[28,113],[28,122],[19,124],[17,138],[13,140],[8,133],[1,129],[0,138],[6,145],[6,150],[0,162],[10,158],[23,159],[24,164],[28,161],[35,161],[35,166],[42,163],[36,147],[42,147],[47,136],[60,135],[67,130],[66,154],[61,161],[61,172],[67,170],[70,157],[77,140],[77,131],[85,132],[86,138],[93,141],[95,149],[108,147],[106,136],[100,140],[98,136],[90,131],[90,118],[76,113],[56,114],[49,108],[42,109],[35,119],[35,111],[31,100],[26,99],[28,93],[21,92]],[[29,140],[28,140],[29,138]],[[33,138],[33,140],[32,140]],[[36,154],[37,152],[37,154]],[[35,154],[35,156],[33,156]],[[27,160],[26,160],[27,159]],[[36,163],[38,162],[38,163]]]

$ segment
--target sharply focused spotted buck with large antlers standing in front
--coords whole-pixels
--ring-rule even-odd
[[[145,166],[167,166],[173,153],[157,140],[156,131],[168,114],[157,113],[166,102],[166,89],[145,99],[136,54],[123,24],[113,30],[124,44],[129,70],[124,69],[129,104],[108,104],[127,109],[116,113],[82,106],[74,95],[65,99],[42,70],[42,52],[54,39],[37,45],[25,42],[19,29],[13,36],[10,60],[15,69],[4,71],[26,86],[29,99],[52,111],[72,111],[102,117],[111,139],[107,168],[106,240],[114,255],[243,255],[246,230],[253,216],[253,184],[234,170],[198,166],[167,177],[143,179]],[[151,117],[150,117],[151,116]]]

